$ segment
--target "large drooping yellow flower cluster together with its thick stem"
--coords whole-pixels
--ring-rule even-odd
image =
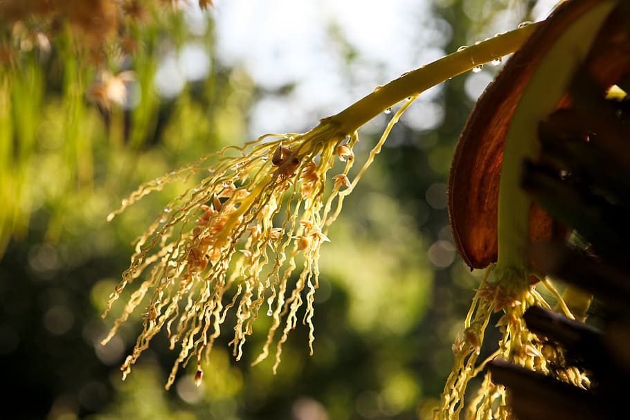
[[[159,314],[143,324],[136,346],[123,364],[123,377],[152,338],[165,329],[171,349],[179,351],[166,383],[169,388],[180,365],[186,365],[190,358],[200,363],[211,351],[228,313],[236,316],[230,345],[240,358],[265,303],[273,321],[254,363],[264,360],[272,343],[277,343],[276,372],[282,344],[296,327],[297,313],[303,306],[302,322],[309,328],[312,353],[319,248],[329,241],[327,229],[341,212],[343,199],[381,151],[393,125],[420,92],[514,52],[535,26],[497,35],[405,73],[340,113],[323,118],[305,134],[267,134],[243,147],[225,147],[132,192],[108,220],[166,183],[196,182],[168,203],[138,239],[131,264],[107,303],[103,316],[129,284],[142,279],[104,344],[145,297]],[[356,160],[352,147],[359,140],[357,130],[399,103],[384,134],[350,183],[348,172]],[[343,174],[327,181],[326,174],[337,158],[345,161]],[[330,182],[336,186],[326,188]],[[346,188],[340,191],[342,185]],[[229,303],[224,305],[226,301]],[[474,322],[487,325],[484,319]],[[275,338],[278,330],[280,337]]]

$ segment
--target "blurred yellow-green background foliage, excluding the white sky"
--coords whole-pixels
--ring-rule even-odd
[[[446,51],[489,36],[471,19],[485,28],[496,8],[515,6],[492,3],[480,17],[466,14],[476,10],[472,3],[434,7],[435,19],[451,28]],[[490,3],[483,3],[487,9]],[[523,19],[531,6],[519,3]],[[451,243],[444,200],[451,152],[474,104],[465,95],[467,76],[445,84],[433,101],[444,115],[438,127],[395,127],[345,201],[332,243],[323,247],[314,356],[308,356],[306,329],[298,329],[276,376],[272,360],[251,367],[266,335],[268,321],[261,319],[242,362],[219,340],[200,387],[187,369],[174,390],[163,390],[174,358],[165,337],[121,381],[118,367],[133,347],[140,316],[102,347],[114,318],[101,320],[100,313],[127,267],[134,237],[183,187],[152,194],[111,223],[105,217],[139,183],[249,140],[248,110],[260,97],[242,69],[216,60],[211,12],[204,15],[204,34],[190,32],[181,11],[160,6],[149,13],[141,23],[124,22],[125,33],[138,41],[133,53],[109,51],[100,64],[76,48],[76,33],[55,33],[49,50],[25,48],[24,40],[39,33],[37,21],[17,28],[0,21],[1,46],[13,54],[0,69],[0,363],[9,389],[2,417],[430,416],[476,286]],[[154,88],[161,57],[192,40],[206,48],[208,75],[174,98],[161,97]],[[129,70],[134,78],[123,80],[129,96],[122,106],[94,91],[107,75]],[[376,134],[363,134],[362,147]]]

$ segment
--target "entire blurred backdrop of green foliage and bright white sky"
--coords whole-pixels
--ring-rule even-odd
[[[106,217],[142,182],[267,132],[306,131],[405,71],[542,19],[553,2],[112,2],[125,8],[99,53],[77,46],[93,27],[41,3],[0,1],[0,417],[431,417],[478,284],[451,240],[450,159],[500,66],[427,91],[395,126],[323,246],[314,356],[298,328],[275,376],[271,360],[249,364],[261,319],[240,362],[219,339],[200,387],[190,366],[164,390],[175,358],[164,336],[122,381],[141,313],[107,346],[124,300],[100,314],[134,238],[177,187]],[[69,3],[90,15],[107,2]],[[359,160],[387,117],[360,131]]]

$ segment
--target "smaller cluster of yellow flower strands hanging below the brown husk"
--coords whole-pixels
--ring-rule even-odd
[[[552,285],[546,279],[541,284],[554,294]],[[560,295],[559,307],[566,303]],[[525,325],[523,313],[532,306],[551,309],[545,298],[534,286],[525,285],[523,288],[507,289],[497,281],[495,266],[489,266],[477,293],[473,298],[469,313],[464,321],[464,332],[456,338],[452,349],[455,363],[440,399],[440,405],[434,413],[434,419],[459,419],[464,408],[464,394],[472,378],[483,372],[490,360],[503,358],[518,365],[544,374],[561,376],[562,380],[577,387],[588,387],[588,377],[575,367],[562,367],[564,356],[559,350],[550,348],[541,338],[532,334]],[[566,309],[568,311],[568,309]],[[477,363],[480,349],[483,345],[485,331],[489,327],[492,313],[503,313],[496,323],[501,340],[498,349]],[[568,316],[573,315],[568,311]],[[552,367],[555,366],[555,370]],[[559,368],[562,367],[562,368]],[[477,396],[468,407],[467,418],[484,419],[486,415],[492,418],[509,418],[509,401],[503,385],[492,383],[486,373]]]

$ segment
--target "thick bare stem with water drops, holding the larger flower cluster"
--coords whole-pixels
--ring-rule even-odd
[[[413,97],[440,84],[451,77],[465,73],[476,66],[491,62],[496,58],[514,53],[530,36],[538,24],[525,25],[479,44],[463,48],[431,64],[415,69],[354,102],[334,116],[324,118],[323,123],[336,125],[339,136],[354,133],[366,122],[375,118],[385,109],[393,107],[406,98]]]

